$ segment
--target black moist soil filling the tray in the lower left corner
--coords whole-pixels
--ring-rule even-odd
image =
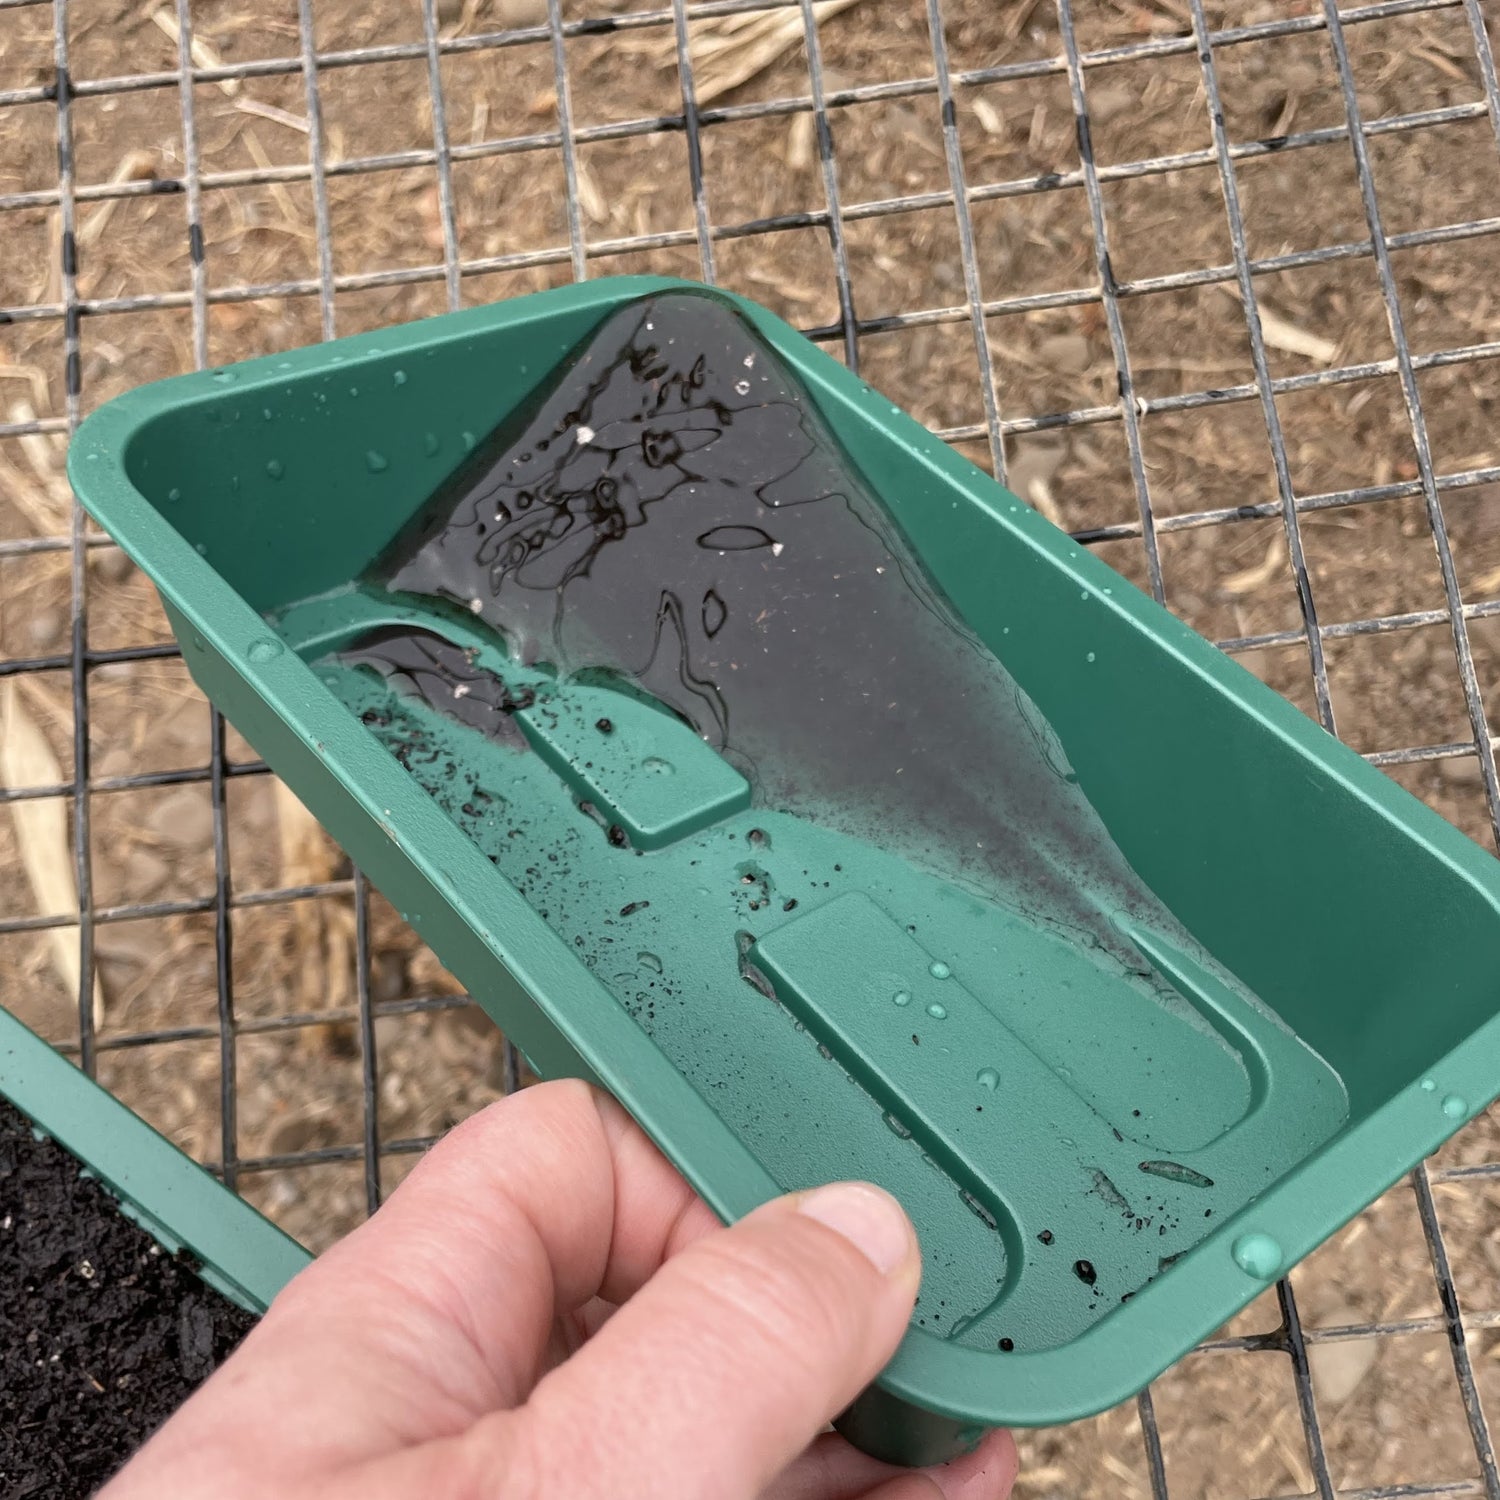
[[[92,1494],[254,1323],[0,1100],[0,1494]]]

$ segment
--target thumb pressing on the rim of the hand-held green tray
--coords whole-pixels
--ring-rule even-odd
[[[910,1221],[864,1182],[705,1234],[510,1413],[555,1468],[537,1490],[750,1500],[879,1374],[920,1280]]]

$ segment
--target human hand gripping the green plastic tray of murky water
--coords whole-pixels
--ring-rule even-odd
[[[724,1228],[614,1100],[543,1083],[440,1142],[99,1500],[1005,1500],[1006,1432],[903,1470],[822,1431],[920,1275],[876,1188]]]

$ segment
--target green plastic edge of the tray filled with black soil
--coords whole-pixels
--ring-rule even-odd
[[[250,1312],[312,1257],[0,1008],[0,1096],[76,1156],[159,1245]]]

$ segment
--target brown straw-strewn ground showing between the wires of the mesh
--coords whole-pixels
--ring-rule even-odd
[[[633,0],[568,0],[568,16],[614,14]],[[848,14],[824,6],[820,30],[830,87],[926,76],[932,72],[924,8],[861,0]],[[948,0],[956,68],[1056,56],[1048,6]],[[1224,24],[1305,9],[1299,0],[1215,4]],[[534,0],[465,0],[440,6],[448,34],[474,34],[540,20]],[[1174,32],[1176,0],[1078,4],[1084,48]],[[96,78],[123,66],[172,69],[171,9],[96,0],[75,4],[74,74]],[[699,98],[720,104],[807,93],[807,68],[789,12],[694,22]],[[204,0],[194,6],[195,56],[234,63],[297,51],[288,0]],[[414,0],[320,0],[321,46],[420,40]],[[1230,21],[1232,18],[1232,21]],[[164,20],[168,22],[164,26]],[[48,78],[51,14],[0,14],[0,90]],[[1370,117],[1442,108],[1480,98],[1462,12],[1396,16],[1352,27],[1348,42]],[[567,44],[574,123],[580,128],[672,116],[681,93],[670,30],[582,36]],[[1341,122],[1326,44],[1317,34],[1221,50],[1226,122],[1254,140]],[[556,126],[556,80],[546,44],[447,57],[442,63],[450,136],[458,144],[526,136]],[[330,160],[432,144],[426,63],[330,69],[321,75]],[[1094,141],[1101,162],[1125,162],[1206,146],[1209,126],[1191,54],[1095,69],[1088,75]],[[194,94],[206,172],[266,171],[306,162],[308,118],[300,76],[270,76]],[[183,171],[182,117],[174,90],[147,90],[75,104],[81,183],[172,178]],[[50,105],[0,114],[0,194],[54,182]],[[1006,182],[1077,162],[1066,81],[1060,75],[962,90],[956,117],[970,184]],[[838,188],[846,206],[948,188],[942,122],[932,94],[832,111]],[[1500,159],[1485,120],[1370,141],[1382,206],[1392,232],[1500,212]],[[579,147],[584,230],[591,242],[692,230],[687,153],[680,134],[594,141]],[[824,188],[806,112],[735,120],[705,129],[704,172],[716,224],[818,210]],[[1282,254],[1358,240],[1364,214],[1347,146],[1332,144],[1246,160],[1239,168],[1250,252]],[[556,250],[549,264],[466,278],[465,302],[488,302],[566,279],[564,176],[556,150],[460,160],[453,166],[454,218],[465,256]],[[1106,184],[1116,274],[1124,280],[1230,261],[1216,174],[1209,170]],[[441,261],[444,225],[430,168],[399,168],[328,180],[334,272],[357,274]],[[978,202],[972,210],[981,292],[1041,294],[1095,282],[1088,204],[1077,189]],[[0,306],[51,303],[62,294],[60,220],[48,208],[6,214],[8,255]],[[318,274],[312,190],[306,180],[206,192],[202,230],[210,288],[285,284]],[[846,226],[852,291],[862,316],[963,303],[954,214],[930,208]],[[190,262],[183,198],[146,195],[80,208],[78,286],[86,297],[183,294]],[[716,244],[720,278],[802,326],[837,318],[826,236],[804,228]],[[591,273],[654,270],[698,274],[692,244],[591,261]],[[1494,336],[1491,288],[1500,255],[1488,238],[1401,250],[1395,272],[1407,332],[1419,351]],[[1346,260],[1260,278],[1262,321],[1276,375],[1388,358],[1390,334],[1368,260]],[[442,309],[441,280],[340,291],[340,333]],[[1140,390],[1164,396],[1251,378],[1244,314],[1221,286],[1167,291],[1122,302]],[[86,318],[81,369],[86,406],[141,380],[190,368],[192,316],[183,308]],[[988,328],[998,399],[1006,417],[1108,405],[1114,363],[1096,303],[1047,308]],[[270,296],[216,303],[207,340],[214,362],[290,348],[320,334],[315,297]],[[933,322],[861,339],[866,378],[922,420],[951,428],[982,417],[968,322]],[[21,422],[64,411],[63,345],[56,320],[0,324],[0,416]],[[1440,472],[1500,460],[1494,438],[1500,380],[1480,362],[1420,376]],[[1299,494],[1383,484],[1414,476],[1400,392],[1389,376],[1278,400]],[[1252,402],[1155,414],[1142,429],[1158,514],[1275,500],[1270,452]],[[68,490],[62,440],[0,440],[0,537],[62,536]],[[963,444],[986,462],[982,444]],[[1024,436],[1006,452],[1011,482],[1060,525],[1132,520],[1119,423]],[[1468,603],[1500,596],[1500,489],[1450,492],[1444,510]],[[1322,512],[1304,522],[1308,567],[1324,624],[1436,609],[1442,582],[1418,500]],[[1143,578],[1138,542],[1101,548],[1128,576]],[[1280,522],[1162,537],[1168,604],[1216,638],[1294,628],[1296,592]],[[60,652],[68,632],[68,560],[62,554],[0,560],[0,658]],[[104,548],[88,567],[88,639],[99,648],[166,639],[146,580]],[[1500,628],[1476,621],[1480,688],[1500,702]],[[1366,752],[1468,738],[1446,628],[1412,628],[1330,640],[1334,705],[1341,734]],[[1311,705],[1299,646],[1245,658],[1304,708]],[[66,674],[28,680],[27,705],[57,762],[72,776],[72,699]],[[208,710],[176,663],[98,669],[88,684],[93,774],[202,765]],[[232,754],[249,759],[232,741]],[[40,772],[36,772],[40,774]],[[51,776],[48,768],[48,776]],[[1395,772],[1473,837],[1488,842],[1474,760],[1444,760]],[[244,1155],[315,1146],[357,1146],[363,1131],[360,1066],[351,1014],[352,906],[342,856],[310,830],[266,777],[234,778],[226,812],[236,891],[284,884],[334,884],[333,894],[234,914],[234,1005],[244,1018],[314,1012],[316,1028],[242,1035],[238,1149]],[[279,812],[279,808],[282,808]],[[46,838],[56,843],[57,819]],[[39,824],[36,825],[40,826]],[[38,910],[22,873],[26,819],[0,816],[0,909]],[[213,888],[212,807],[201,786],[114,792],[93,798],[96,902],[201,898]],[[34,855],[32,856],[34,862]],[[372,910],[374,982],[380,999],[452,993],[456,987],[396,914]],[[1268,940],[1274,934],[1268,933]],[[104,1036],[152,1028],[213,1028],[218,975],[212,914],[142,918],[99,928],[108,998]],[[75,1029],[60,948],[45,934],[0,939],[6,1004],[45,1035]],[[494,1034],[477,1012],[387,1016],[376,1022],[380,1132],[384,1142],[441,1130],[496,1094]],[[100,1077],[135,1108],[202,1158],[220,1150],[220,1048],[214,1038],[170,1047],[106,1052]],[[1446,1160],[1500,1160],[1496,1120],[1466,1131]],[[382,1161],[392,1185],[411,1156]],[[357,1164],[336,1162],[244,1179],[246,1191],[292,1233],[321,1246],[358,1221]],[[1438,1212],[1449,1233],[1460,1294],[1472,1311],[1500,1310],[1494,1186],[1444,1185]],[[1360,1318],[1425,1317],[1436,1310],[1425,1246],[1410,1192],[1395,1190],[1294,1276],[1311,1326]],[[1270,1328],[1266,1299],[1236,1330]],[[1500,1359],[1482,1335],[1476,1362],[1492,1419],[1500,1419]],[[1320,1416],[1340,1485],[1462,1479],[1474,1472],[1443,1341],[1434,1335],[1376,1346],[1324,1344],[1317,1353]],[[1310,1486],[1290,1368],[1276,1354],[1200,1354],[1158,1383],[1158,1414],[1173,1496],[1300,1494]],[[1029,1434],[1018,1494],[1144,1497],[1149,1491],[1134,1408],[1094,1422]]]

